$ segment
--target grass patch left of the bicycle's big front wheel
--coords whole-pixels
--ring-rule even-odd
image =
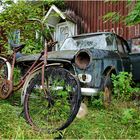
[[[0,100],[0,139],[52,139],[49,135],[32,129],[24,119],[20,105],[20,92],[8,100]]]

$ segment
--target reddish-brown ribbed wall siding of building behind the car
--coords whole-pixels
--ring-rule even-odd
[[[125,39],[130,39],[140,34],[140,26],[138,25],[134,27],[127,27],[121,21],[119,21],[119,23],[113,23],[111,21],[104,22],[102,19],[103,15],[113,11],[126,15],[129,11],[126,7],[127,1],[114,3],[111,1],[105,2],[101,0],[66,0],[65,3],[68,10],[74,11],[75,15],[82,19],[82,21],[77,20],[78,34],[97,31],[111,31],[123,36]]]

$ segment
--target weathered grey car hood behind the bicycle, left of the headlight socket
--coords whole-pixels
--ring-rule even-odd
[[[76,50],[64,50],[64,51],[52,51],[48,52],[48,60],[72,60],[74,55],[77,53]],[[39,58],[40,54],[31,54],[31,55],[23,55],[19,57],[16,61],[23,62],[23,61],[35,61]],[[43,60],[43,56],[41,58]]]

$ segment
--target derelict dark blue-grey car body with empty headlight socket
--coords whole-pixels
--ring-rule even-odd
[[[23,65],[36,60],[38,55],[23,56],[17,63]],[[112,32],[82,34],[67,38],[60,50],[48,53],[48,63],[60,63],[78,77],[82,95],[94,96],[103,89],[105,77],[121,71],[132,72],[140,80],[140,55],[131,53],[131,47],[122,37]]]

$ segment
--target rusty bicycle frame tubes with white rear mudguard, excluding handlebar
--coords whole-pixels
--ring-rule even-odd
[[[9,56],[8,58],[5,58],[4,56],[1,56],[0,58],[4,60],[4,62],[6,62],[7,67],[8,67],[8,81],[12,82],[13,81],[13,74],[14,74],[14,67],[15,67],[15,62],[16,62],[16,53],[17,50],[13,51],[13,54],[11,56]],[[44,55],[44,59],[40,61],[40,59],[42,58],[42,56]],[[12,91],[17,91],[19,90],[23,84],[25,83],[26,77],[29,74],[32,74],[33,71],[35,71],[36,69],[40,69],[42,68],[42,85],[44,85],[44,69],[45,66],[47,65],[47,44],[45,45],[45,49],[44,51],[42,51],[40,53],[40,56],[38,57],[37,60],[34,61],[34,63],[31,65],[31,67],[27,70],[27,72],[22,76],[21,80],[18,82],[18,84],[13,85],[11,84],[10,88],[12,88]],[[10,59],[12,57],[12,64],[9,63]],[[38,63],[39,62],[39,63]],[[1,64],[2,66],[3,64]],[[13,82],[12,82],[13,83]],[[43,86],[44,87],[44,86]]]

